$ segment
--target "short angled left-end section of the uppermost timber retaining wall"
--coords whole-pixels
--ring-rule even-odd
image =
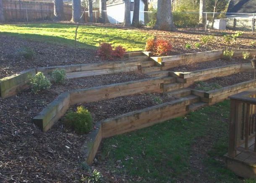
[[[25,70],[19,74],[0,79],[0,97],[7,98],[29,87],[29,75],[36,74],[35,69]]]

